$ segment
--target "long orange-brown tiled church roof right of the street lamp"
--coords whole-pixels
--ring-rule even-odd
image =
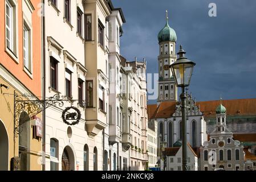
[[[226,107],[227,115],[256,115],[256,98],[222,100],[221,103]],[[197,102],[205,117],[215,117],[218,105],[220,101]]]

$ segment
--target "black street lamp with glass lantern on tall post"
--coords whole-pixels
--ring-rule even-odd
[[[182,88],[181,98],[181,111],[182,111],[182,170],[188,171],[188,159],[186,151],[186,93],[185,87],[189,86],[190,79],[193,72],[193,67],[196,65],[193,61],[188,60],[185,55],[184,49],[180,46],[180,51],[178,54],[178,59],[173,64],[169,66],[172,70],[172,74],[177,87]]]

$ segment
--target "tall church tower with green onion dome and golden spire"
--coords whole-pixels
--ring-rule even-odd
[[[169,65],[176,61],[176,32],[168,23],[168,11],[166,10],[165,27],[158,34],[159,40],[159,96],[158,104],[164,101],[177,101],[177,87]]]

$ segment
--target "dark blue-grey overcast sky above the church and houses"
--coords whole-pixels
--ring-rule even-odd
[[[143,57],[147,72],[158,73],[158,32],[169,25],[186,57],[196,62],[189,90],[197,101],[256,98],[256,1],[254,0],[112,0],[127,22],[121,55]],[[209,3],[217,16],[210,17]],[[154,104],[156,101],[149,101]]]

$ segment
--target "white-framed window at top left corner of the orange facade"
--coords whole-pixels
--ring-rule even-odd
[[[10,27],[7,27],[6,6],[11,7]],[[10,47],[7,47],[7,28],[10,31]],[[5,0],[5,52],[17,64],[19,63],[19,49],[18,49],[18,1]]]

